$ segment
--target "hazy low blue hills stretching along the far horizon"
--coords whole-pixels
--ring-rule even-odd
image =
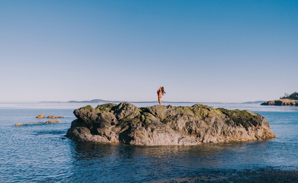
[[[42,101],[41,103],[116,103],[119,104],[121,102],[128,102],[128,103],[158,103],[158,101],[143,101],[143,102],[130,102],[130,101],[110,101],[110,100],[101,100],[101,99],[93,99],[93,100],[85,100],[85,101],[68,101],[68,102],[50,102],[50,101]],[[265,101],[254,101],[254,102],[242,102],[242,103],[223,103],[223,102],[169,102],[163,101],[163,103],[167,104],[262,104]]]

